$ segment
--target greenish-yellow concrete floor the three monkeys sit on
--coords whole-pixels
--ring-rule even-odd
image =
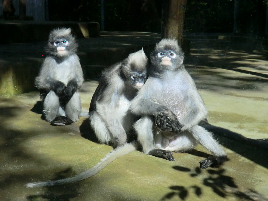
[[[135,151],[89,179],[27,189],[27,182],[83,172],[112,147],[81,137],[79,127],[86,118],[59,127],[42,120],[31,111],[38,91],[0,96],[0,200],[268,200],[267,47],[214,39],[191,39],[190,47],[185,64],[208,108],[208,121],[232,131],[225,131],[226,138],[216,135],[228,161],[199,169],[208,153],[201,146],[174,153],[174,162]],[[87,80],[80,90],[86,111],[97,85]],[[262,144],[229,139],[237,133],[263,139],[255,141]]]

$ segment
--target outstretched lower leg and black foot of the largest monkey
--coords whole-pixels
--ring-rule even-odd
[[[196,138],[200,144],[205,147],[214,156],[208,157],[205,160],[200,161],[200,168],[206,169],[212,165],[219,165],[226,161],[227,156],[223,149],[219,146],[216,140],[212,137],[211,133],[205,130],[201,126],[194,126],[191,128],[194,138]]]

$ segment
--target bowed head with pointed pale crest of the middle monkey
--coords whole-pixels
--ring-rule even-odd
[[[143,49],[131,53],[121,66],[121,77],[126,85],[139,90],[147,80],[148,59]]]

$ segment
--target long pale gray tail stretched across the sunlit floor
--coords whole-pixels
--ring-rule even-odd
[[[42,187],[42,186],[56,186],[66,183],[74,183],[77,181],[81,181],[84,179],[87,179],[89,177],[94,176],[95,174],[99,173],[105,166],[116,160],[117,158],[120,158],[123,155],[126,155],[130,152],[134,152],[137,150],[137,145],[135,142],[131,144],[124,144],[121,147],[118,147],[111,151],[109,154],[105,156],[96,166],[94,166],[91,169],[88,169],[85,172],[82,172],[80,174],[75,175],[74,177],[68,177],[60,180],[55,181],[47,181],[47,182],[34,182],[34,183],[27,183],[25,186],[27,188],[35,188],[35,187]]]

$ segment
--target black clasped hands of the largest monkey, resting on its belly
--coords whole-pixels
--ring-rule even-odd
[[[155,125],[159,130],[180,133],[183,127],[177,119],[176,115],[167,112],[161,112],[155,118]]]

